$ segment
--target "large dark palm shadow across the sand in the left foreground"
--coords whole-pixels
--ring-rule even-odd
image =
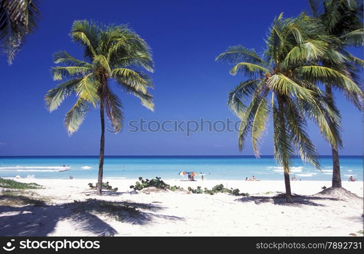
[[[19,196],[0,196],[1,204],[19,202]],[[152,213],[163,207],[132,202],[109,202],[90,199],[74,203],[48,205],[44,201],[21,197],[23,206],[0,205],[0,236],[47,236],[61,220],[67,220],[73,230],[83,235],[114,236],[118,232],[105,220],[116,219],[123,223],[145,225],[154,218],[184,220],[177,216]],[[147,211],[142,211],[147,210]]]

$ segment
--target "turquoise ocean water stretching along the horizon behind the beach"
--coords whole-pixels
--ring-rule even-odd
[[[332,178],[331,156],[321,157],[322,171],[305,165],[300,158],[294,158],[293,162],[291,174],[297,179]],[[350,176],[363,180],[362,156],[341,156],[340,164],[342,180],[347,181]],[[96,179],[97,170],[97,156],[0,156],[0,177]],[[186,178],[178,175],[180,171],[203,173],[211,180],[244,180],[253,175],[262,180],[283,178],[283,169],[277,166],[273,156],[106,156],[104,164],[105,179]]]

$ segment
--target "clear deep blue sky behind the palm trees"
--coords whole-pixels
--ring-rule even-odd
[[[226,107],[227,92],[244,77],[232,77],[229,66],[215,56],[230,45],[262,51],[273,18],[309,11],[307,0],[277,1],[42,1],[39,29],[28,38],[12,66],[0,58],[0,155],[96,155],[100,140],[98,111],[89,113],[78,133],[68,137],[64,114],[75,102],[70,97],[53,113],[44,95],[57,82],[49,73],[52,53],[67,50],[81,57],[69,31],[75,19],[129,23],[151,46],[156,71],[155,112],[136,98],[119,93],[125,122],[147,120],[236,119]],[[356,49],[361,56],[362,50]],[[362,154],[362,115],[338,95],[343,115],[345,149],[341,154]],[[108,125],[108,123],[107,123]],[[320,154],[329,146],[310,124]],[[262,154],[273,154],[272,125]],[[106,135],[107,155],[228,155],[239,154],[236,133],[128,133]],[[242,154],[253,154],[250,140]]]

